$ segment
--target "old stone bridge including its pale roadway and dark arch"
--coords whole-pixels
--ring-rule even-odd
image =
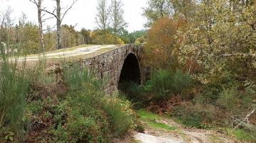
[[[141,46],[136,45],[80,45],[67,49],[47,52],[47,61],[50,69],[56,65],[54,61],[64,57],[72,63],[79,62],[82,67],[93,71],[100,79],[107,79],[108,93],[119,88],[122,81],[133,81],[137,84],[142,82],[141,72]],[[22,60],[22,59],[21,59]],[[35,63],[38,55],[26,57],[27,62]],[[72,64],[71,63],[71,64]],[[58,64],[57,64],[58,65]]]

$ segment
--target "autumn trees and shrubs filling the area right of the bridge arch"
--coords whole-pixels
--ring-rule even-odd
[[[255,1],[148,4],[142,64],[151,76],[127,96],[136,103],[139,94],[139,105],[188,127],[232,128],[230,135],[255,142]]]

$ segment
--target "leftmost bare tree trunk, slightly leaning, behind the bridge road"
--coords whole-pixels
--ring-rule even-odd
[[[38,25],[39,25],[39,35],[41,42],[41,49],[46,52],[44,41],[43,41],[43,22],[42,22],[42,0],[38,0]]]

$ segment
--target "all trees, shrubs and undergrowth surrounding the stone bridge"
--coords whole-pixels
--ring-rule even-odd
[[[176,130],[160,121],[164,115],[256,142],[254,0],[148,0],[148,30],[134,33],[125,30],[120,0],[110,8],[98,0],[98,28],[80,31],[61,25],[75,0],[62,18],[60,0],[53,13],[41,9],[41,0],[32,2],[39,25],[25,14],[15,25],[11,8],[0,15],[0,142],[110,142],[129,130],[144,131],[133,105],[139,120],[156,130]],[[57,30],[43,33],[42,12],[57,18]],[[147,80],[124,82],[122,93],[112,96],[104,80],[79,65],[64,64],[55,75],[44,60],[28,69],[16,59],[56,47],[127,43],[144,45],[140,67]]]

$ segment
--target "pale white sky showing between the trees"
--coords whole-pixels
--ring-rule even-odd
[[[63,0],[62,8],[67,8],[73,0]],[[124,6],[124,20],[128,23],[127,30],[133,32],[134,30],[144,29],[144,23],[146,18],[142,16],[142,7],[146,6],[147,0],[122,0]],[[107,0],[110,4],[110,0]],[[28,21],[37,23],[37,9],[36,5],[29,0],[0,0],[0,11],[6,11],[8,7],[13,9],[11,17],[17,23],[21,13],[26,13]],[[55,3],[52,0],[43,0],[43,6],[46,6],[49,10],[53,9]],[[62,24],[76,25],[75,29],[81,28],[95,29],[97,23],[95,22],[95,16],[97,13],[97,0],[78,0],[72,9],[65,16]],[[46,16],[47,18],[48,16]],[[55,25],[55,20],[49,20],[44,23],[46,25]]]

